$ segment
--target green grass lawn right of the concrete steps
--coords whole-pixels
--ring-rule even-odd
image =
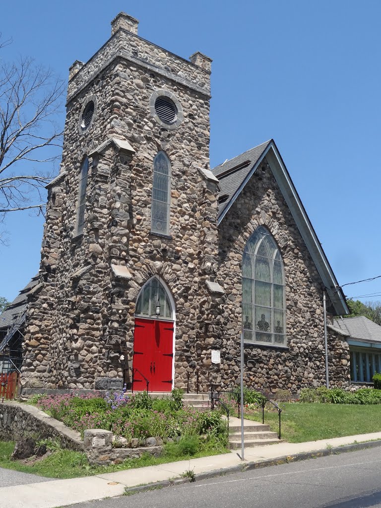
[[[381,405],[280,403],[282,439],[299,443],[381,431]],[[262,413],[245,415],[262,423]],[[278,432],[277,412],[265,413],[265,424]]]

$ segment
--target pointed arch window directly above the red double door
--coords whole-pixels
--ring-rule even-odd
[[[160,314],[156,314],[156,307],[160,305]],[[164,285],[156,277],[143,287],[136,302],[135,315],[142,317],[158,317],[158,319],[173,319],[171,301]]]

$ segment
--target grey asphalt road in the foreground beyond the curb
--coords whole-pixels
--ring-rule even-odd
[[[75,508],[381,507],[379,448],[266,467]]]

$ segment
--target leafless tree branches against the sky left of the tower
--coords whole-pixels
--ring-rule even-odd
[[[11,42],[2,41],[0,33],[0,50]],[[0,223],[16,210],[43,213],[44,187],[62,147],[56,118],[64,92],[65,83],[33,59],[5,63],[0,58]]]

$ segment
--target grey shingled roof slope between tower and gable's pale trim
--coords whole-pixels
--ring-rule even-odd
[[[246,152],[237,155],[237,157],[230,159],[230,161],[226,161],[212,169],[213,175],[216,176],[219,181],[219,196],[226,197],[224,202],[219,203],[218,217],[221,213],[223,213],[225,207],[229,204],[251,168],[257,164],[262,153],[265,151],[270,142],[271,140],[255,146],[254,148],[250,148],[250,150],[247,150]],[[248,164],[242,166],[245,162]]]

